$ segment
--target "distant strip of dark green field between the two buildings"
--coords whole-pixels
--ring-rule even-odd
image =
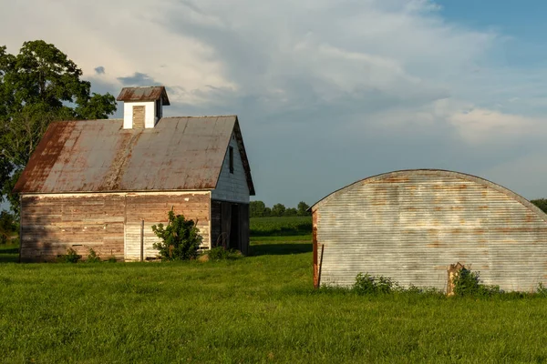
[[[284,237],[312,234],[312,217],[252,217],[251,236]]]

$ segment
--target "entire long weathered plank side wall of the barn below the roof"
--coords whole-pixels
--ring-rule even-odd
[[[144,257],[154,258],[158,238],[152,225],[176,214],[198,220],[203,244],[210,247],[210,192],[25,195],[21,199],[21,259],[54,260],[74,248],[86,257],[139,260],[140,221],[144,219]],[[125,243],[124,243],[125,242]]]

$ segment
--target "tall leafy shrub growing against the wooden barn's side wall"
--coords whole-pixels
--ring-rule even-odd
[[[160,251],[162,260],[187,260],[196,258],[201,244],[200,230],[193,220],[187,220],[182,215],[175,216],[169,212],[167,227],[163,224],[153,225],[152,231],[161,239],[153,247]]]

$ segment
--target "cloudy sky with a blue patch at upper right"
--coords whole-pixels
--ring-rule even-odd
[[[237,114],[267,205],[408,168],[547,197],[544,2],[2,3],[12,54],[44,39],[96,92],[165,85],[166,116]]]

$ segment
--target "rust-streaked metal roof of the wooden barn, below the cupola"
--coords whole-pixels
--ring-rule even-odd
[[[233,133],[254,195],[237,116],[163,117],[154,128],[122,126],[121,119],[52,123],[14,191],[212,189]]]

